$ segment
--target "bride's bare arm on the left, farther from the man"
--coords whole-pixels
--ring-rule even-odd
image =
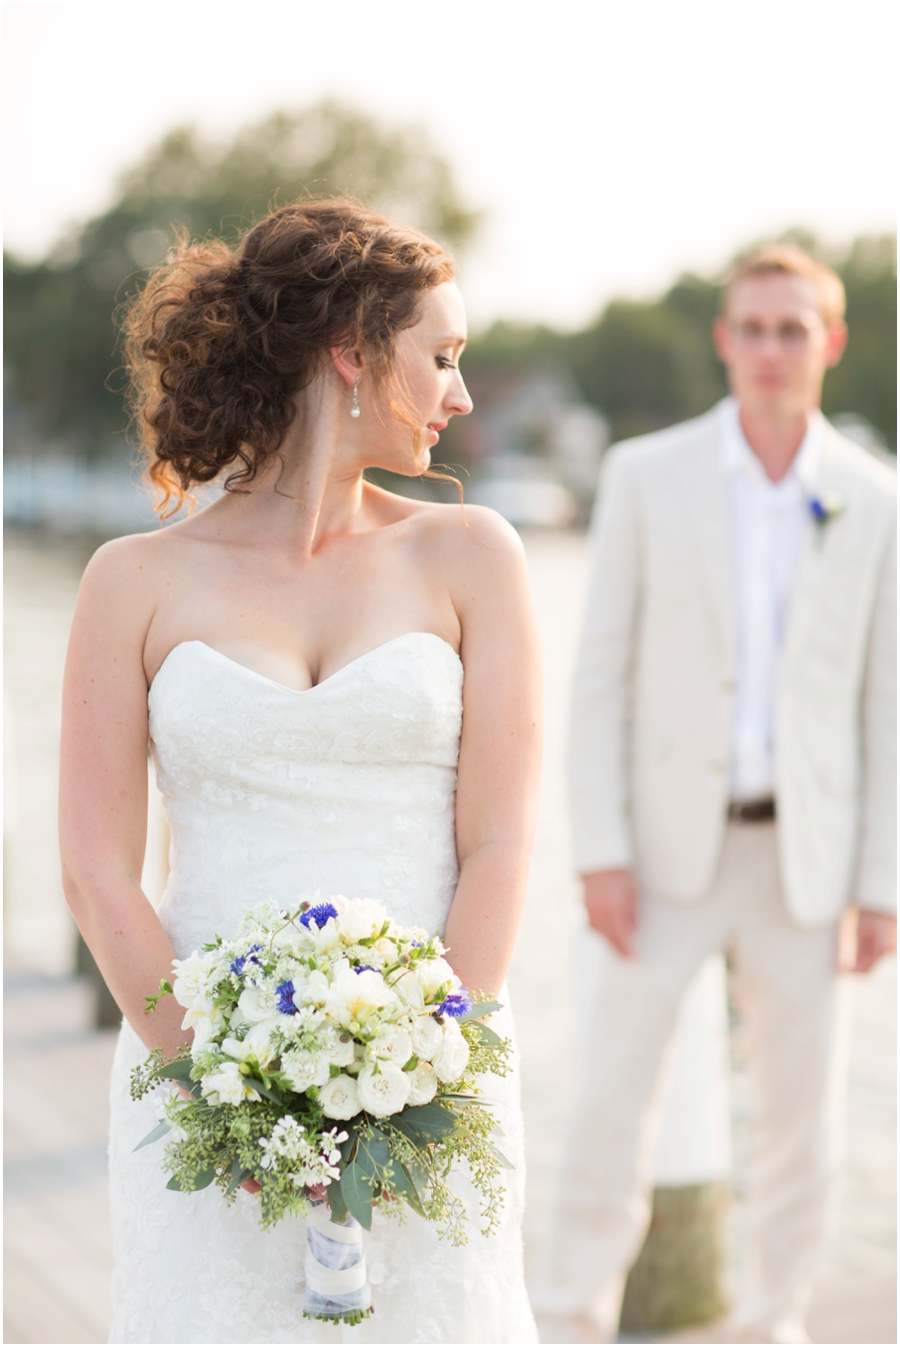
[[[172,1056],[183,1010],[144,997],[171,977],[174,950],[140,888],[147,839],[147,678],[152,606],[140,539],[90,562],[69,638],[62,700],[59,849],[69,907],[123,1014]]]

